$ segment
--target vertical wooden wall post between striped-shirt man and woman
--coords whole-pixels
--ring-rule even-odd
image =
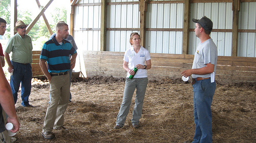
[[[100,51],[106,50],[106,16],[107,1],[101,1],[101,19],[100,19]]]

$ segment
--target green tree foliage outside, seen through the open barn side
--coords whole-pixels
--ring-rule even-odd
[[[10,0],[0,0],[0,17],[4,18],[7,22],[7,28],[5,36],[9,39],[10,38]],[[33,20],[32,12],[28,10],[24,10],[24,8],[17,8],[17,20],[22,20],[24,23],[29,24]],[[66,8],[55,8],[54,12],[51,14],[51,17],[47,17],[48,22],[51,26],[53,33],[55,33],[55,25],[58,21],[65,21],[67,22],[67,10]],[[42,45],[49,40],[51,36],[45,21],[42,17],[35,23],[35,25],[31,28],[28,35],[32,38],[33,42],[33,49],[40,50]],[[35,47],[36,46],[36,47]]]

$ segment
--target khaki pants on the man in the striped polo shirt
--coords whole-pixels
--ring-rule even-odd
[[[51,101],[46,111],[42,132],[52,131],[64,123],[64,112],[69,103],[70,78],[69,74],[52,76],[50,83]]]

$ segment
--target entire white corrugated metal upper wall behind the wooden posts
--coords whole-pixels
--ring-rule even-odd
[[[138,2],[134,1],[108,1]],[[96,4],[95,1],[79,1],[79,4]],[[256,3],[241,3],[239,11],[239,29],[255,30]],[[138,4],[108,5],[108,28],[139,28],[140,12]],[[232,29],[232,3],[191,3],[190,28],[195,28],[192,18],[209,17],[216,30]],[[146,28],[183,28],[184,4],[148,4]],[[83,50],[100,50],[100,5],[75,7],[74,38]],[[106,50],[125,51],[130,47],[129,38],[132,32],[138,31],[107,31]],[[231,56],[232,33],[212,32],[211,38],[218,47],[218,55]],[[151,53],[182,53],[182,31],[146,32],[146,46]],[[239,33],[238,56],[256,57],[256,34],[253,32]],[[195,32],[189,34],[189,54],[194,54],[200,42]]]

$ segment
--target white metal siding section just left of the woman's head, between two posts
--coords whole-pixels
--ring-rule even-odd
[[[107,9],[107,28],[139,28],[139,5],[108,5]],[[106,51],[123,52],[130,48],[133,32],[138,31],[107,31]]]

